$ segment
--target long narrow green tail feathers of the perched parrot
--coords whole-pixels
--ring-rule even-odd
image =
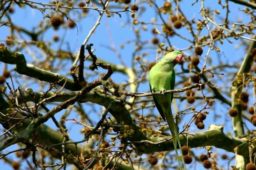
[[[180,170],[182,170],[181,169],[182,166],[180,164],[179,155],[178,155],[178,149],[177,149],[177,142],[178,142],[178,145],[179,145],[180,149],[181,149],[181,142],[180,142],[180,139],[179,139],[179,133],[178,133],[178,130],[177,130],[177,127],[176,127],[176,123],[173,119],[172,113],[170,113],[168,116],[166,115],[166,120],[168,122],[168,126],[169,126],[170,131],[171,131],[171,135],[172,135],[172,139],[173,139],[173,145],[174,145],[175,154],[176,154],[176,157],[177,157],[177,160],[178,160],[179,168],[180,168]],[[183,162],[184,170],[186,170],[185,160],[184,160],[184,156],[183,156],[182,151],[181,151],[181,156],[182,156],[182,162]]]

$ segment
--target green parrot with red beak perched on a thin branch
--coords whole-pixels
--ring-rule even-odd
[[[163,91],[164,90],[173,90],[175,85],[175,71],[174,66],[182,59],[183,54],[180,51],[172,51],[168,53],[165,57],[163,57],[157,64],[155,64],[151,70],[149,71],[149,86],[151,92]],[[173,138],[173,144],[175,153],[177,156],[179,168],[181,170],[181,164],[179,160],[179,155],[177,151],[177,143],[179,148],[181,149],[181,143],[179,140],[179,134],[177,131],[176,123],[173,119],[172,110],[171,110],[171,102],[173,99],[172,94],[164,94],[164,95],[154,95],[153,96],[155,106],[163,120],[167,121],[168,126],[171,131],[171,135]],[[183,166],[185,167],[185,161],[182,155]]]

